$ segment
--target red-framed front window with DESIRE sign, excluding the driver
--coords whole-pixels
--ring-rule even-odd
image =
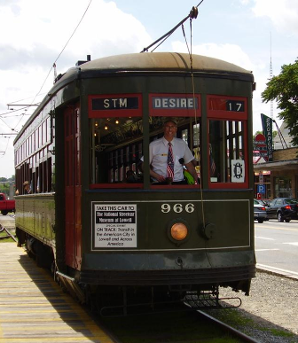
[[[176,138],[182,139],[188,152],[177,151],[175,154],[173,175],[165,174],[164,160],[168,159],[168,148],[161,149],[161,140],[156,148],[149,148],[149,165],[158,175],[163,175],[166,181],[160,181],[154,173],[151,177],[152,187],[187,187],[194,184],[192,173],[200,178],[200,95],[199,94],[150,94],[150,142],[166,134],[167,120],[176,122]],[[165,125],[164,125],[165,124]],[[174,147],[175,149],[175,147]],[[154,156],[155,151],[161,151],[161,157]],[[161,160],[163,159],[163,164]],[[155,162],[156,160],[156,162]],[[156,163],[156,166],[154,166]],[[161,168],[162,167],[162,168]],[[189,170],[187,170],[187,168]],[[170,173],[169,173],[170,174]],[[181,181],[180,181],[181,180]],[[166,184],[164,184],[166,183]]]

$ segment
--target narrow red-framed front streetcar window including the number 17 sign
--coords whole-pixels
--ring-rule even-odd
[[[208,117],[209,187],[247,188],[247,99],[208,96]]]

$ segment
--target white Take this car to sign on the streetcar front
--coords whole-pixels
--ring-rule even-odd
[[[95,248],[137,247],[136,204],[93,204]]]

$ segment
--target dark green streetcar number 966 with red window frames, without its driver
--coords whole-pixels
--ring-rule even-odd
[[[82,301],[123,289],[248,294],[254,85],[239,66],[170,52],[99,58],[59,75],[14,142],[16,187],[31,187],[16,197],[21,243]],[[199,160],[200,184],[150,179],[148,145],[169,116]],[[176,224],[185,238],[172,236]]]

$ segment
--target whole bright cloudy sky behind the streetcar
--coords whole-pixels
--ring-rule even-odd
[[[192,37],[190,20],[184,23],[192,53],[252,71],[254,133],[262,130],[261,113],[273,113],[280,127],[276,103],[271,112],[261,93],[271,67],[278,75],[297,59],[297,0],[0,0],[0,177],[14,174],[10,134],[20,131],[51,89],[54,62],[63,74],[87,55],[93,60],[142,51],[198,4]],[[182,29],[156,51],[187,52]]]

